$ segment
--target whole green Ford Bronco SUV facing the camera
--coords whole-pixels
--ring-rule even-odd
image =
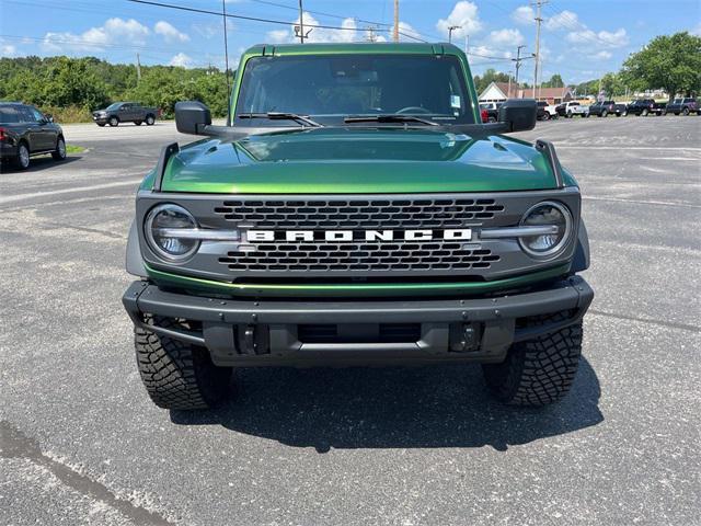
[[[561,398],[594,293],[575,179],[536,101],[482,124],[449,44],[260,45],[226,126],[139,187],[124,305],[151,399],[215,405],[233,367],[478,362],[499,400]]]

